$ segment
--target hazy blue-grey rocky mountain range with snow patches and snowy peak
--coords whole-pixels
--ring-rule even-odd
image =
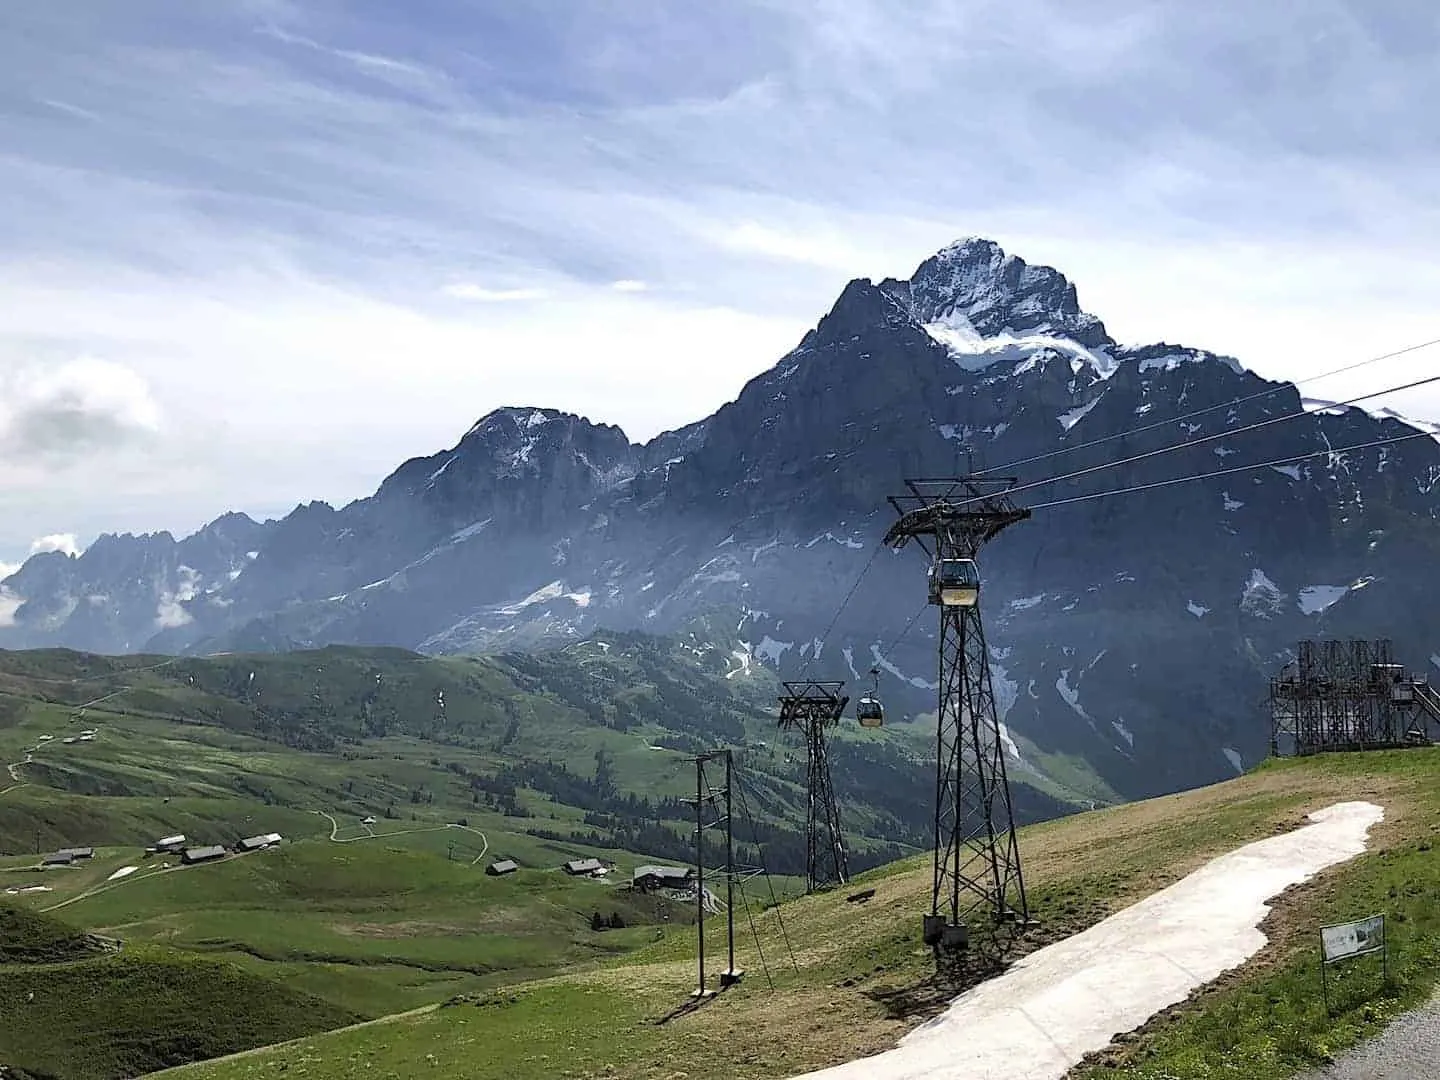
[[[500,409],[340,510],[36,556],[0,585],[0,647],[474,652],[729,611],[729,677],[878,668],[891,714],[919,716],[935,612],[923,557],[876,550],[886,497],[1005,467],[1035,508],[981,557],[1011,770],[1145,796],[1263,755],[1264,680],[1300,638],[1440,655],[1440,445],[1341,449],[1417,431],[1354,408],[1240,432],[1300,409],[1227,357],[1117,344],[1058,271],[971,239],[852,281],[736,400],[645,445]]]

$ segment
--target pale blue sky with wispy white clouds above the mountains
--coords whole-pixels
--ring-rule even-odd
[[[1428,0],[3,4],[0,563],[503,405],[649,438],[969,235],[1270,377],[1440,337],[1437,56]]]

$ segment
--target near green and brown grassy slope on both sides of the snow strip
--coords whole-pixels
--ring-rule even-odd
[[[1341,799],[1384,805],[1365,855],[1287,893],[1266,923],[1270,943],[1238,972],[1156,1018],[1109,1064],[1076,1076],[1149,1080],[1270,1080],[1375,1031],[1431,991],[1440,949],[1440,750],[1272,763],[1241,779],[1027,829],[1022,854],[1047,939],[1169,884],[1240,844],[1293,828]],[[700,1009],[655,1021],[694,985],[694,933],[615,965],[536,981],[484,999],[393,1022],[330,1032],[226,1061],[192,1066],[190,1080],[249,1080],[276,1070],[307,1077],[406,1077],[420,1070],[467,1080],[526,1077],[773,1077],[824,1067],[894,1044],[946,994],[927,982],[917,949],[929,890],[922,861],[867,876],[876,896],[847,904],[831,894],[756,917],[773,988],[755,942],[740,942],[746,982]],[[1391,984],[1359,962],[1344,971],[1335,1015],[1320,1004],[1316,929],[1385,912]],[[742,926],[744,923],[742,922]],[[719,930],[711,926],[711,930]],[[795,948],[795,966],[785,939]],[[708,939],[719,948],[719,935]],[[719,956],[719,952],[713,953]],[[720,963],[717,962],[717,966]]]

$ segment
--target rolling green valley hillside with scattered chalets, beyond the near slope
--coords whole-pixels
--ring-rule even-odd
[[[697,749],[736,747],[737,857],[775,874],[756,888],[798,888],[805,762],[775,730],[776,691],[759,667],[642,635],[501,658],[0,654],[0,899],[122,940],[118,960],[85,969],[95,994],[141,978],[125,965],[161,949],[156,963],[219,962],[193,969],[216,985],[256,981],[258,1001],[321,1002],[318,1027],[593,969],[693,926],[691,904],[616,883],[693,858]],[[926,842],[912,793],[932,783],[927,746],[906,729],[837,736],[852,867]],[[1038,789],[1020,802],[1030,816],[1064,809]],[[285,842],[196,867],[145,852],[176,832]],[[95,857],[40,865],[78,845]],[[579,857],[612,864],[611,878],[559,870]],[[497,858],[521,870],[487,876]],[[16,958],[66,948],[14,930]],[[168,1045],[164,1021],[134,1035],[145,1053]],[[65,1058],[56,1076],[88,1067]]]

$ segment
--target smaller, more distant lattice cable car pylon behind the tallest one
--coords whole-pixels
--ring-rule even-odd
[[[780,727],[805,734],[805,891],[814,893],[850,880],[840,808],[829,779],[827,730],[840,723],[850,701],[844,683],[785,683]]]

